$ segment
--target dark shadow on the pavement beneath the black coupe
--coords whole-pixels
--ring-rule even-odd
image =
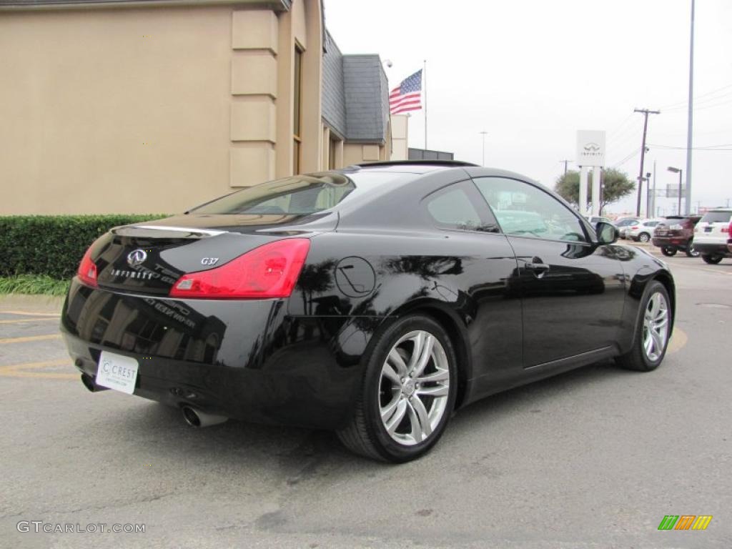
[[[575,392],[582,395],[591,384],[605,384],[614,378],[633,375],[606,361],[509,389],[458,411],[449,425],[449,436],[460,444],[460,438],[470,437],[471,430],[479,425],[510,419],[512,414],[537,413],[556,404],[556,399],[563,395]],[[277,471],[291,486],[324,470],[332,473],[343,469],[350,474],[354,467],[374,471],[385,466],[352,455],[341,446],[335,433],[328,431],[236,420],[195,428],[184,422],[179,409],[159,403],[130,408],[118,425],[115,436],[130,438],[130,444],[154,442],[149,450],[157,454],[157,459],[184,460],[191,465],[201,462],[201,466],[227,470]],[[449,448],[438,445],[432,455],[436,452],[449,452]]]

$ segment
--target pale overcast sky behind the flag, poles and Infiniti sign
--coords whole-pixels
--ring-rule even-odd
[[[657,186],[686,168],[690,0],[325,0],[343,53],[390,59],[389,86],[427,59],[427,146],[518,171],[553,187],[575,159],[577,130],[608,132],[607,162]],[[692,208],[732,200],[732,1],[697,0]],[[423,111],[409,145],[425,146]],[[679,147],[679,149],[667,148]],[[574,167],[573,164],[569,165]],[[684,173],[685,178],[685,173]],[[660,198],[670,214],[676,199]],[[609,207],[635,211],[635,198]]]

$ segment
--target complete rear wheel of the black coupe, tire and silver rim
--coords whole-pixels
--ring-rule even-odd
[[[368,458],[403,463],[429,451],[455,406],[455,350],[432,318],[400,318],[376,336],[351,422],[338,437]]]

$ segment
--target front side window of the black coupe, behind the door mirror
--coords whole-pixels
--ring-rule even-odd
[[[587,242],[572,210],[538,187],[507,177],[477,177],[474,182],[504,234]]]

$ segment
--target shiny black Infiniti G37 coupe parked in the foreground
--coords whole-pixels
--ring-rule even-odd
[[[236,191],[91,244],[61,329],[91,391],[335,430],[419,457],[453,411],[614,357],[654,370],[665,264],[558,195],[458,163],[355,165]]]

